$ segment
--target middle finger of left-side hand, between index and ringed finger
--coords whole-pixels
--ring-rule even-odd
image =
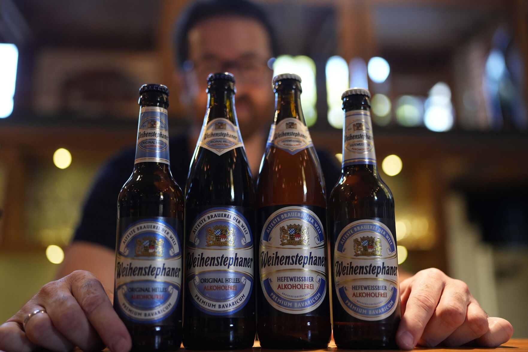
[[[69,289],[58,290],[53,298],[46,301],[44,307],[55,328],[74,345],[85,351],[105,347]]]

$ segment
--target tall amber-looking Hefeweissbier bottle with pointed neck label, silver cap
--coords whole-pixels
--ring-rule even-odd
[[[323,173],[300,105],[300,77],[276,76],[275,119],[257,182],[265,348],[324,348],[331,336]]]

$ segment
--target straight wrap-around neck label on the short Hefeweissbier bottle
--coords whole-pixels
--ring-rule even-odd
[[[343,166],[376,165],[370,112],[352,110],[345,113],[343,125]]]

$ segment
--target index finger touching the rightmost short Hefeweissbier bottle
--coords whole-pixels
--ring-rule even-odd
[[[415,276],[417,278],[412,283],[405,314],[396,334],[396,342],[401,349],[416,346],[444,289],[445,274],[439,270],[421,271]]]

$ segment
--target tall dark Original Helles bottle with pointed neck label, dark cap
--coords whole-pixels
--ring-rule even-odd
[[[208,77],[208,107],[185,188],[185,348],[250,348],[255,340],[255,196],[234,83],[228,72]]]

